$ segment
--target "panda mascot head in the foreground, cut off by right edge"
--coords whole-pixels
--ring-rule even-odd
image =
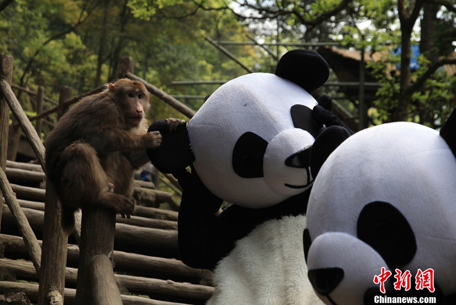
[[[440,134],[387,123],[362,130],[329,155],[311,191],[304,232],[309,279],[326,304],[404,296],[455,303],[455,135],[453,111]]]

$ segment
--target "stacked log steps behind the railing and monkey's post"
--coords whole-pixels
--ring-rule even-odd
[[[18,202],[36,237],[42,239],[46,177],[41,166],[7,162],[5,170]],[[116,281],[123,304],[204,304],[213,293],[209,271],[185,266],[178,258],[177,212],[158,208],[163,202],[175,204],[170,193],[138,181],[135,197],[139,203],[131,219],[117,217],[113,252]],[[33,264],[14,217],[3,204],[0,234],[0,292],[25,292],[34,302],[38,281]],[[143,205],[142,205],[143,204]],[[144,206],[145,205],[145,206]],[[150,207],[155,206],[155,207]],[[41,245],[41,241],[40,245]],[[65,304],[75,303],[79,246],[69,237],[65,274]],[[24,280],[31,283],[19,283]]]

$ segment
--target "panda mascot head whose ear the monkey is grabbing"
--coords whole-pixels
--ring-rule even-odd
[[[252,73],[226,82],[176,133],[148,151],[162,172],[194,166],[219,198],[248,208],[268,207],[308,190],[309,153],[322,127],[312,119],[310,93],[328,78],[317,53],[293,50],[275,74]],[[149,130],[164,130],[151,126]]]

